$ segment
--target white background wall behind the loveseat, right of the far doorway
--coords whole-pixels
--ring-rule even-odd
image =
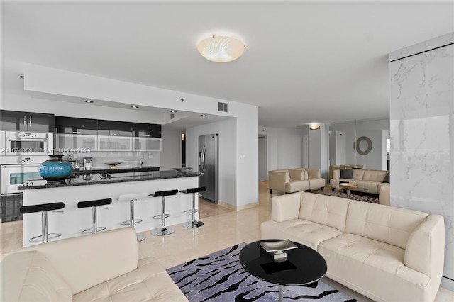
[[[259,126],[258,133],[267,135],[267,169],[299,168],[303,164],[303,130]]]

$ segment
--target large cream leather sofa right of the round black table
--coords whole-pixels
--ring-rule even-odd
[[[444,257],[443,216],[299,192],[272,198],[262,239],[318,251],[326,276],[375,301],[433,301]]]

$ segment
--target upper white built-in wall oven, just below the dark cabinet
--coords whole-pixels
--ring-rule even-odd
[[[49,155],[53,152],[53,133],[1,131],[2,156]]]

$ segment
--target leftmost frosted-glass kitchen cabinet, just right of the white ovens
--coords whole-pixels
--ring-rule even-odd
[[[55,145],[60,152],[91,152],[98,149],[98,136],[86,134],[55,134]]]

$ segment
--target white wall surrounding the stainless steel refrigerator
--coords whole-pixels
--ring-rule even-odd
[[[237,206],[237,184],[236,184],[236,119],[209,123],[186,129],[186,165],[193,167],[194,171],[199,169],[199,136],[218,133],[218,192],[219,201]],[[257,190],[257,182],[255,183]]]

